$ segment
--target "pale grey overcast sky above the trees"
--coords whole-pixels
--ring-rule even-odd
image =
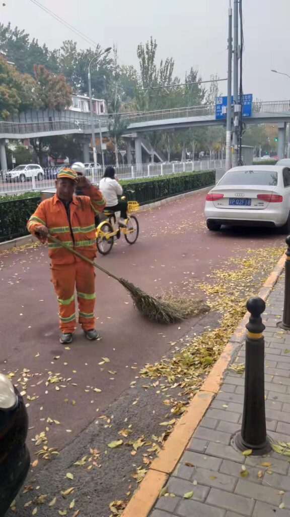
[[[5,6],[2,3],[5,2]],[[64,39],[89,44],[43,12],[31,0],[4,0],[1,22],[25,29],[31,37],[59,47]],[[202,79],[218,73],[227,77],[229,0],[40,0],[102,47],[117,44],[120,63],[137,67],[137,44],[152,35],[158,59],[173,57],[175,72],[184,79],[191,66]],[[232,0],[233,3],[233,0]],[[243,0],[244,93],[262,100],[290,99],[289,0]],[[226,94],[226,82],[220,83]]]

